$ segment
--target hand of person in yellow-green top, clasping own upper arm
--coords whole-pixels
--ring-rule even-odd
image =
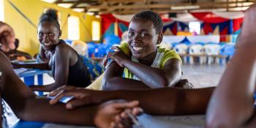
[[[118,48],[118,46],[113,46],[110,49],[114,51],[108,52],[107,56],[105,56],[105,59],[102,63],[103,67],[107,66],[109,59],[116,61],[120,67],[124,67],[125,61],[129,61],[129,56],[127,56],[120,48]]]

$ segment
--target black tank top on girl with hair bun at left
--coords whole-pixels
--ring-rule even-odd
[[[76,55],[78,56],[78,53],[76,53]],[[55,63],[56,59],[53,61],[52,65],[53,78],[55,78]],[[89,71],[86,65],[83,64],[80,56],[78,56],[78,61],[73,66],[69,67],[69,77],[67,80],[67,85],[76,87],[87,87],[90,84],[91,78],[89,75]]]

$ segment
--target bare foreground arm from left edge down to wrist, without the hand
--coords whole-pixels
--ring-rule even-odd
[[[48,99],[37,97],[15,75],[8,59],[0,52],[1,95],[18,118],[24,121],[41,121],[59,124],[93,124],[94,106],[67,110],[63,104],[49,105]],[[12,92],[12,93],[10,93]],[[17,100],[18,99],[18,100]]]

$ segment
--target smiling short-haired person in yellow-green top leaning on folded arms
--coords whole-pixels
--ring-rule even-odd
[[[105,71],[103,89],[161,88],[175,86],[181,80],[178,54],[157,46],[162,42],[162,27],[162,19],[152,11],[139,12],[132,18],[128,42],[108,53],[107,58],[113,61]]]

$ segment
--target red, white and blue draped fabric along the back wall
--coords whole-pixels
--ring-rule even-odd
[[[127,31],[129,21],[134,15],[108,14],[102,16],[102,35],[116,34],[121,37]],[[241,29],[244,12],[191,12],[177,14],[176,18],[164,18],[163,33],[176,35],[178,31],[187,31],[189,22],[201,22],[201,34],[233,34]]]

